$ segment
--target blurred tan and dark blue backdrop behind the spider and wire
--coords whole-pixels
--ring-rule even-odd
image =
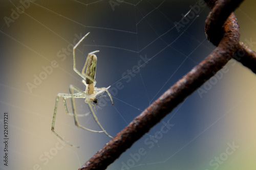
[[[256,4],[235,11],[241,41],[256,51]],[[97,53],[96,87],[110,87],[95,107],[99,122],[115,136],[170,86],[215,49],[206,40],[209,8],[200,0],[9,0],[1,2],[1,169],[78,169],[110,140],[77,128],[57,93],[73,84],[73,71]],[[255,169],[256,76],[231,60],[218,76],[123,153],[108,169]],[[79,114],[89,113],[83,99]],[[72,110],[68,100],[69,110]],[[4,163],[4,113],[8,113],[8,166]],[[83,126],[100,130],[89,114]]]

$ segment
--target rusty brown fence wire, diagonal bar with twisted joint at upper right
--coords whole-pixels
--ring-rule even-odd
[[[106,143],[79,170],[106,169],[125,150],[130,148],[135,141],[159,123],[165,115],[170,113],[187,96],[203,85],[205,80],[214,76],[231,58],[240,61],[253,72],[256,71],[255,52],[239,42],[239,25],[236,17],[231,13],[242,1],[221,0],[216,3],[216,0],[205,0],[212,9],[206,19],[205,32],[209,40],[218,45],[217,48],[162,94],[157,101],[146,108],[113,139]],[[215,4],[217,5],[215,6]],[[220,9],[225,11],[222,12]],[[218,32],[218,36],[215,35],[215,31]],[[238,51],[244,52],[243,57],[236,57],[235,54]]]

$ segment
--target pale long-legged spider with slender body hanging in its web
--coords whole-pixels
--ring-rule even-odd
[[[82,71],[79,72],[77,69],[76,69],[76,60],[75,60],[75,50],[76,50],[76,47],[81,43],[81,41],[86,38],[88,36],[89,33],[87,33],[84,37],[82,37],[82,39],[80,39],[77,44],[73,47],[73,69],[74,71],[83,78],[82,80],[82,83],[86,86],[86,91],[82,91],[80,90],[79,88],[73,86],[73,85],[70,85],[69,87],[69,90],[70,90],[70,94],[69,93],[58,93],[57,96],[56,96],[56,102],[55,102],[55,108],[54,108],[54,113],[53,113],[53,119],[52,119],[52,132],[57,135],[61,140],[65,141],[66,143],[68,143],[69,145],[71,146],[74,146],[72,145],[71,143],[69,143],[68,141],[66,141],[65,139],[63,139],[62,137],[60,137],[55,131],[54,131],[54,124],[55,124],[55,118],[56,118],[56,112],[57,112],[57,106],[58,106],[58,101],[59,101],[59,98],[62,97],[63,98],[63,103],[64,103],[64,107],[65,107],[65,110],[66,110],[66,113],[69,114],[69,115],[72,115],[74,116],[74,120],[75,120],[75,125],[82,128],[82,129],[85,129],[85,130],[88,130],[88,131],[91,131],[91,132],[104,132],[106,135],[108,135],[109,137],[112,138],[112,136],[110,136],[105,130],[104,128],[100,125],[99,121],[98,121],[98,118],[97,116],[95,115],[94,111],[93,111],[93,106],[95,106],[98,102],[98,97],[99,95],[101,95],[103,92],[107,92],[108,95],[110,96],[110,99],[112,101],[112,105],[113,105],[113,100],[112,100],[112,97],[111,97],[111,94],[110,92],[108,91],[108,89],[110,88],[107,87],[101,87],[101,88],[97,88],[95,87],[95,84],[96,84],[96,81],[95,81],[95,75],[96,75],[96,63],[97,63],[97,57],[95,55],[95,53],[98,53],[99,51],[94,51],[94,52],[91,52],[88,54],[87,56],[87,59],[86,59],[86,63],[84,63],[84,66],[82,68]],[[84,73],[84,71],[86,71]],[[76,93],[74,93],[74,91]],[[73,113],[69,113],[68,112],[68,108],[67,108],[67,103],[66,103],[66,99],[69,99],[71,98],[71,103],[72,103],[72,109],[73,109]],[[102,129],[102,131],[95,131],[95,130],[91,130],[91,129],[88,129],[86,127],[83,127],[81,126],[79,123],[78,123],[78,119],[77,119],[77,116],[86,116],[88,114],[83,114],[83,115],[78,115],[76,114],[76,107],[75,107],[75,98],[84,98],[84,102],[88,104],[91,112],[92,112],[92,115],[95,119],[95,121],[97,122],[97,124],[99,125],[99,127]],[[92,103],[93,102],[93,103]],[[74,146],[76,147],[76,146]],[[77,147],[79,148],[79,147]]]

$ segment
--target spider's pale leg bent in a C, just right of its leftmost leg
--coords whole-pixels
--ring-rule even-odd
[[[72,109],[73,109],[73,113],[74,113],[75,125],[84,129],[84,130],[88,130],[88,131],[91,131],[91,132],[97,132],[97,133],[104,132],[103,129],[102,129],[103,131],[95,131],[95,130],[91,130],[91,129],[88,129],[86,127],[83,127],[79,124],[78,119],[77,119],[77,114],[76,114],[74,90],[76,90],[77,92],[80,92],[80,93],[84,93],[84,92],[82,90],[80,90],[79,88],[73,86],[73,85],[70,85],[69,90],[70,90],[70,93],[71,93],[71,103],[72,103]],[[84,95],[87,95],[87,94],[84,93]]]

